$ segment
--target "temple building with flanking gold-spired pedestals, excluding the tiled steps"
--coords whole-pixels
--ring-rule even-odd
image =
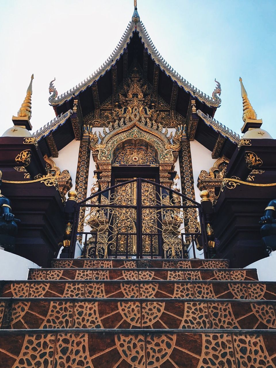
[[[96,72],[61,95],[54,80],[50,82],[49,103],[56,117],[33,133],[29,120],[32,79],[18,116],[13,116],[14,127],[1,138],[3,187],[7,187],[12,202],[15,199],[20,203],[21,188],[28,191],[36,187],[42,201],[45,190],[53,186],[51,189],[57,190],[54,202],[59,208],[55,212],[59,220],[54,221],[53,235],[51,220],[46,215],[47,211],[51,213],[49,201],[44,201],[46,212],[36,230],[30,223],[39,206],[22,213],[24,220],[15,240],[15,252],[24,255],[26,247],[32,248],[33,244],[32,261],[41,263],[43,258],[47,263],[57,256],[61,244],[67,247],[62,256],[73,256],[78,244],[86,256],[93,252],[93,256],[117,258],[125,256],[126,251],[135,256],[138,242],[142,247],[139,256],[145,257],[202,258],[211,252],[212,256],[230,258],[235,266],[245,266],[265,256],[255,225],[269,199],[268,187],[273,187],[276,180],[272,180],[271,164],[268,163],[269,171],[265,170],[263,160],[248,146],[252,146],[253,139],[258,147],[274,147],[274,140],[261,129],[262,120],[257,119],[241,78],[242,137],[214,118],[221,104],[220,83],[215,79],[209,97],[181,77],[153,45],[135,6],[120,42]],[[143,182],[138,190],[137,178],[155,184]],[[70,189],[75,190],[77,203],[88,207],[77,206],[77,215],[69,221],[64,204]],[[266,194],[259,201],[259,208],[256,202],[248,200],[240,213],[240,209],[233,208],[235,201],[230,204],[226,199],[233,189],[233,193],[241,192],[242,197],[251,189],[254,193],[265,190]],[[173,209],[173,222],[165,209],[159,213],[153,208],[142,209],[138,220],[137,190],[141,191],[141,205],[182,208],[178,212]],[[202,201],[201,191],[209,192],[202,198],[212,203],[212,210],[204,219],[202,209],[197,207]],[[176,192],[180,193],[178,197]],[[94,197],[88,199],[91,195]],[[255,206],[255,217],[250,221],[249,202],[252,208]],[[136,207],[123,212],[110,208],[122,204]],[[231,207],[230,212],[225,206]],[[22,206],[18,211],[22,211]],[[15,213],[20,217],[17,208]],[[229,219],[223,219],[228,215],[231,236],[226,237]],[[245,221],[240,228],[238,218]],[[139,226],[145,230],[140,236]],[[74,245],[69,239],[72,234]],[[48,254],[46,261],[45,255],[40,259],[43,252],[33,255],[38,245]]]

